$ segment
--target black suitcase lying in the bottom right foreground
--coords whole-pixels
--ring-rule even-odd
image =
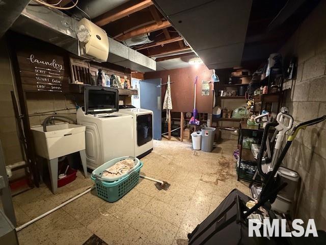
[[[241,191],[232,190],[219,207],[188,234],[188,244],[277,244],[274,239],[248,236],[248,219],[242,215],[249,210],[246,203],[250,200]]]

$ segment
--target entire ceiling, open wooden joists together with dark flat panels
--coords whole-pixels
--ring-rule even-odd
[[[47,0],[55,4],[58,0]],[[62,0],[58,6],[70,6]],[[65,13],[91,18],[108,36],[156,60],[157,69],[257,68],[319,0],[79,0]]]

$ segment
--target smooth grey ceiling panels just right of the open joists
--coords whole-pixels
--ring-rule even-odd
[[[241,64],[252,0],[155,0],[205,65]]]

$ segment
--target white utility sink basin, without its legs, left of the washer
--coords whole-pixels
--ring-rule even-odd
[[[36,154],[46,159],[54,159],[85,150],[85,126],[60,123],[46,127],[31,127]]]

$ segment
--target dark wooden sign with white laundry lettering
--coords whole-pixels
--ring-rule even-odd
[[[16,46],[22,89],[39,92],[68,92],[68,53],[42,41]]]

